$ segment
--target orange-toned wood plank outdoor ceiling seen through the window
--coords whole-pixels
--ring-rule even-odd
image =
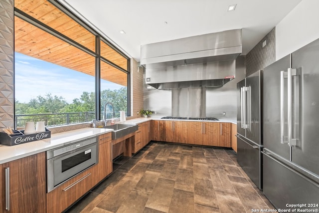
[[[47,0],[14,0],[14,6],[95,52],[95,35]],[[101,41],[101,56],[128,69],[128,60]],[[14,17],[14,50],[95,76],[95,57],[42,29]],[[101,61],[101,79],[127,86],[127,75]]]

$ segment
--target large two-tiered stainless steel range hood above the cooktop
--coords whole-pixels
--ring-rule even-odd
[[[241,29],[141,46],[146,84],[157,89],[222,86],[235,78]]]

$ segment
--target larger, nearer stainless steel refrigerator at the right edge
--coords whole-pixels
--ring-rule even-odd
[[[318,209],[319,39],[264,68],[263,77],[264,194],[277,209]]]

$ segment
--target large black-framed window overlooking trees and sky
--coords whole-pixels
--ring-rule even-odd
[[[59,4],[14,3],[16,127],[30,120],[46,126],[100,120],[107,102],[115,117],[121,110],[129,115],[127,56],[103,38],[96,44],[101,36]]]

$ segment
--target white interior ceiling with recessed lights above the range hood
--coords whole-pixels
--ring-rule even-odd
[[[301,0],[60,1],[140,61],[142,44],[237,28],[245,55]],[[236,9],[227,11],[231,4]]]

